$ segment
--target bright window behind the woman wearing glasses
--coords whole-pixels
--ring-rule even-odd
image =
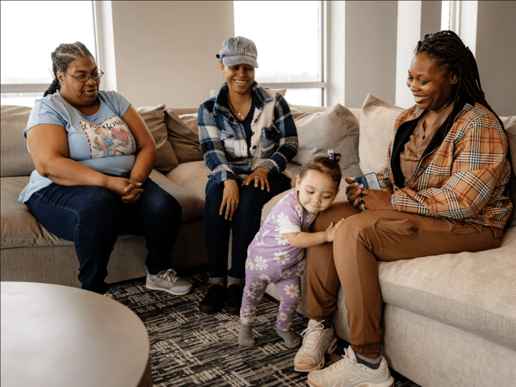
[[[1,2],[1,102],[32,106],[52,82],[50,53],[83,42],[98,58],[91,0]]]

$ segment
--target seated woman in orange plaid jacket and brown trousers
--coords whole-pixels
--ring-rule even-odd
[[[294,367],[310,372],[312,387],[393,384],[380,353],[377,261],[497,248],[510,224],[507,134],[486,101],[471,51],[453,31],[426,35],[414,50],[407,86],[415,105],[395,122],[377,172],[381,189],[346,178],[348,201],[321,212],[312,227],[325,230],[345,218],[333,243],[307,249],[310,321]],[[341,361],[320,369],[335,349],[331,321],[341,285],[351,345]]]

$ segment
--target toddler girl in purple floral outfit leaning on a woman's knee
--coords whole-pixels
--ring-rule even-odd
[[[300,301],[300,279],[305,260],[304,249],[333,241],[341,223],[326,231],[309,233],[319,211],[335,200],[341,182],[341,155],[328,151],[328,156],[312,158],[296,178],[296,188],[276,204],[247,250],[246,285],[240,309],[238,344],[252,347],[252,325],[256,307],[270,282],[280,294],[280,311],[276,333],[289,348],[298,347],[299,338],[290,330]]]

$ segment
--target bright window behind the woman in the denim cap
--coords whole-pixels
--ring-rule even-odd
[[[256,44],[256,80],[286,88],[291,104],[325,101],[323,1],[235,1],[235,36]]]

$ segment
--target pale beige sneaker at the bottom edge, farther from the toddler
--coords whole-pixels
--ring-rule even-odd
[[[378,369],[372,369],[357,362],[357,357],[349,346],[342,360],[308,374],[308,384],[311,387],[391,387],[394,378],[384,357]]]

